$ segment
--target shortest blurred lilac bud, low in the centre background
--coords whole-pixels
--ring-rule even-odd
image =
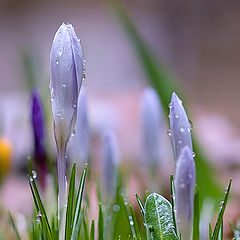
[[[119,151],[116,136],[106,131],[102,137],[102,180],[103,189],[108,197],[115,194],[117,187]]]

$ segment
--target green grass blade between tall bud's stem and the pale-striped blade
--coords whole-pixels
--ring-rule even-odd
[[[66,225],[65,225],[65,239],[70,240],[72,234],[72,221],[73,221],[73,204],[75,195],[75,176],[76,176],[76,163],[73,164],[69,192],[67,202],[67,213],[66,213]]]

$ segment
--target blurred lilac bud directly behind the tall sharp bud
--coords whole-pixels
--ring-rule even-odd
[[[87,100],[85,88],[82,88],[78,98],[77,120],[75,133],[68,144],[68,155],[73,162],[87,162],[89,153],[89,129],[87,116]]]

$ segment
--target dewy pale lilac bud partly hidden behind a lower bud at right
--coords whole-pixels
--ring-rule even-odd
[[[188,146],[192,152],[191,123],[182,105],[182,101],[176,93],[172,94],[170,107],[170,130],[173,154],[175,161],[178,160],[182,149]]]

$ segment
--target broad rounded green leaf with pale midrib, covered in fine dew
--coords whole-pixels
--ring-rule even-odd
[[[171,203],[157,193],[147,197],[145,222],[153,240],[178,240],[173,222]]]

